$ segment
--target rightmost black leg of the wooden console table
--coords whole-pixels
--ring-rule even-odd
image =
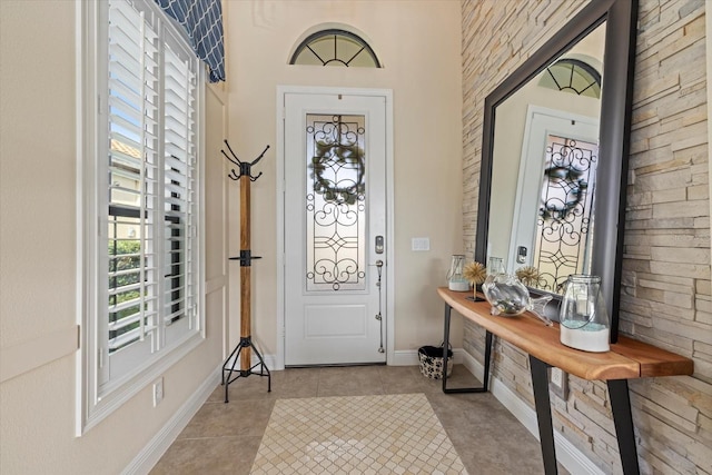
[[[615,424],[615,435],[619,439],[623,473],[625,475],[639,475],[641,469],[637,464],[637,447],[635,445],[627,379],[609,379],[606,383],[609,385],[613,424]]]

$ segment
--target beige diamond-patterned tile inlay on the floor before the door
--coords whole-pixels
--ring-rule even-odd
[[[278,399],[251,474],[466,474],[424,394]]]

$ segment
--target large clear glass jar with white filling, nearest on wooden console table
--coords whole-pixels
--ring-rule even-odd
[[[568,276],[558,320],[564,345],[595,353],[611,349],[611,323],[601,293],[601,277]]]

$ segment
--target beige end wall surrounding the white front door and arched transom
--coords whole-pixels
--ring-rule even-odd
[[[295,43],[320,23],[364,33],[383,69],[288,66]],[[276,88],[343,86],[394,91],[395,349],[442,339],[442,304],[449,256],[462,253],[461,34],[455,1],[229,1],[228,75],[234,150],[253,159],[273,146],[253,184],[253,335],[263,353],[277,352]],[[239,254],[239,186],[230,187],[230,255]],[[412,237],[431,238],[413,253]],[[239,266],[230,267],[233,286]],[[239,294],[230,300],[230,340],[239,339]],[[457,324],[459,325],[459,323]],[[461,328],[454,328],[455,344]]]

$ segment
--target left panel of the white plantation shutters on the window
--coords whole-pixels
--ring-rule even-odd
[[[150,354],[158,317],[158,32],[130,2],[109,6],[109,377],[112,356]],[[128,347],[134,347],[128,352]],[[140,347],[140,349],[139,349]],[[130,358],[135,359],[135,358]],[[127,362],[128,366],[132,362]]]

